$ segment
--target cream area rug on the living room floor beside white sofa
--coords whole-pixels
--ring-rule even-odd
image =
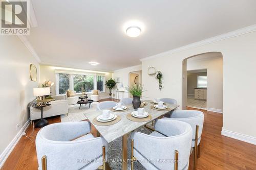
[[[93,102],[91,108],[89,108],[88,104],[87,105],[83,104],[80,109],[79,109],[80,105],[78,104],[69,105],[68,114],[60,115],[60,120],[61,122],[79,122],[82,120],[86,120],[87,117],[84,116],[83,113],[95,111],[98,103],[99,102]]]

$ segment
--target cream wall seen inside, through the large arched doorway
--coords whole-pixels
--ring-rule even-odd
[[[207,110],[223,110],[223,58],[187,59],[187,70],[207,69]],[[209,108],[209,109],[208,109]]]

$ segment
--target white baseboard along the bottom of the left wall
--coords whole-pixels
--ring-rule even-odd
[[[29,124],[30,124],[30,118],[24,124],[24,126],[18,131],[18,133],[12,139],[12,141],[8,144],[8,146],[6,147],[4,152],[0,155],[0,169],[4,165],[6,159],[9,157],[9,155],[11,154],[11,152],[14,149],[14,147],[16,146],[16,144],[18,143],[19,139],[22,138],[22,136],[24,135],[24,132],[29,127]]]

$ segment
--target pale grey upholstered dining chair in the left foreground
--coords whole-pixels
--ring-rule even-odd
[[[35,140],[38,169],[105,169],[108,142],[103,137],[94,138],[90,131],[89,122],[56,123],[42,128]]]

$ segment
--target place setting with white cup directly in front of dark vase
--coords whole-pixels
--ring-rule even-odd
[[[144,108],[138,108],[137,110],[126,115],[127,119],[134,122],[147,122],[152,119],[152,116],[145,111]]]

